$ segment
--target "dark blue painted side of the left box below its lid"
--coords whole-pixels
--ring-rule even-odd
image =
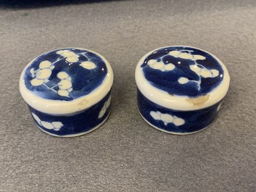
[[[97,104],[94,104],[94,106],[70,116],[55,116],[42,113],[29,105],[28,108],[32,113],[33,120],[41,130],[57,136],[80,135],[97,128],[107,119],[110,114],[110,106],[106,106],[106,103],[110,99],[110,93],[111,91],[107,93],[107,96],[105,96],[104,99]],[[102,113],[102,117],[99,118],[102,109],[105,109],[105,112]],[[49,129],[49,126],[51,126],[50,124],[53,122],[58,122],[57,124],[61,125],[61,128],[57,126],[57,128]],[[44,125],[48,125],[48,128]]]

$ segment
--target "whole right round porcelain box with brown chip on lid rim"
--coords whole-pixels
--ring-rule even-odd
[[[229,75],[214,55],[190,46],[167,46],[141,58],[135,72],[141,116],[178,135],[210,125],[228,91]]]

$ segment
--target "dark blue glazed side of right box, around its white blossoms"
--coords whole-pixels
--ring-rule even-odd
[[[217,115],[219,109],[218,107],[220,106],[221,102],[219,101],[217,104],[214,104],[211,107],[207,107],[205,109],[199,109],[194,111],[178,111],[162,107],[158,104],[154,104],[152,101],[149,101],[149,99],[146,99],[146,97],[141,93],[141,91],[139,91],[139,89],[137,94],[137,100],[139,112],[146,121],[148,121],[155,127],[169,133],[179,134],[197,132],[210,125]],[[170,114],[173,117],[176,116],[182,118],[185,123],[179,126],[176,126],[174,123],[165,124],[163,120],[155,120],[150,112]]]

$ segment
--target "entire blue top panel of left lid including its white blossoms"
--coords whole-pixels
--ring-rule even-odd
[[[60,49],[36,58],[25,70],[28,90],[44,99],[73,101],[102,84],[107,66],[97,54]]]

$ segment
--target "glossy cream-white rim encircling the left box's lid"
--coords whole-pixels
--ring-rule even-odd
[[[80,112],[88,107],[93,106],[94,104],[98,103],[100,100],[104,98],[104,96],[109,93],[112,84],[113,84],[113,71],[110,63],[107,62],[101,54],[96,53],[95,51],[91,51],[89,49],[81,49],[81,48],[61,48],[61,49],[80,49],[85,51],[90,51],[97,56],[99,56],[106,64],[107,67],[107,75],[102,81],[102,84],[99,87],[95,88],[91,93],[88,93],[86,96],[81,96],[78,99],[74,99],[73,101],[62,101],[62,100],[51,100],[51,99],[44,99],[40,96],[37,96],[33,93],[33,91],[28,90],[24,83],[24,75],[25,70],[30,66],[30,64],[37,58],[33,59],[25,69],[22,71],[20,75],[20,93],[23,99],[27,102],[30,107],[37,109],[40,112],[44,112],[47,114],[55,114],[55,115],[62,115],[62,114],[70,114],[74,112]],[[57,51],[59,49],[54,49],[51,51]],[[48,51],[45,54],[51,52]]]

